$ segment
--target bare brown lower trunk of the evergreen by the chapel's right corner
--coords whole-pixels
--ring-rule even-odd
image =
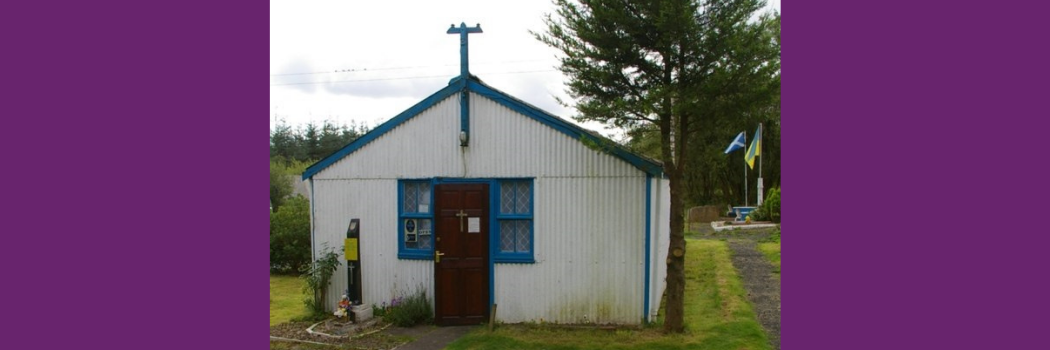
[[[680,333],[685,330],[686,293],[686,236],[682,235],[681,177],[677,171],[668,176],[671,187],[671,240],[667,248],[667,318],[664,331]]]

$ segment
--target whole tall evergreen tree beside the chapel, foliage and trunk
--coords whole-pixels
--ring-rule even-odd
[[[684,330],[686,241],[682,180],[699,130],[720,103],[743,103],[742,87],[779,75],[771,20],[759,0],[555,0],[537,39],[558,48],[581,121],[659,132],[671,189],[665,330]],[[777,22],[777,25],[779,22]],[[776,57],[775,62],[771,62]],[[776,65],[773,67],[772,65]],[[722,141],[722,142],[728,142]]]

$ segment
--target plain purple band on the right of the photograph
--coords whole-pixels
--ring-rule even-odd
[[[785,349],[1046,343],[1046,6],[783,6]]]

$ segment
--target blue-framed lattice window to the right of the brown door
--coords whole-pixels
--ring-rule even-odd
[[[532,181],[502,180],[496,220],[497,263],[532,263]]]

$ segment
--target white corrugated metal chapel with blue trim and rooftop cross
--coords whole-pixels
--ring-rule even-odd
[[[650,321],[670,231],[662,167],[469,75],[470,29],[448,30],[461,76],[302,174],[314,255],[357,219],[364,304],[422,287],[439,325],[487,322],[492,305],[505,323]]]

